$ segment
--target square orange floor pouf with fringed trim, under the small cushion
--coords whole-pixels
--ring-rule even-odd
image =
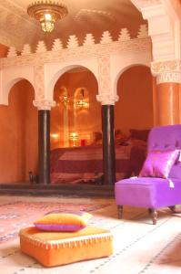
[[[21,251],[45,267],[113,254],[112,234],[98,227],[85,227],[76,232],[47,232],[26,227],[20,230],[19,237]]]

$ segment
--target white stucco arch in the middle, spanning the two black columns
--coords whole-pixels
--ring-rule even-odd
[[[47,75],[48,79],[45,79],[45,97],[48,100],[54,100],[54,88],[56,81],[67,71],[72,68],[86,68],[88,69],[94,76],[98,83],[98,66],[96,60],[74,62],[72,64],[47,64],[45,65],[45,75]]]

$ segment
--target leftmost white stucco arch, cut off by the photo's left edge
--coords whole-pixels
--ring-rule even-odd
[[[21,68],[6,68],[1,72],[2,76],[2,88],[0,103],[3,105],[8,105],[9,92],[13,86],[20,80],[26,79],[34,88],[34,68],[21,67]]]

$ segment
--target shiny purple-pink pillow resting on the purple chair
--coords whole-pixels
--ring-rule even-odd
[[[179,150],[148,153],[139,176],[167,178],[178,155]]]

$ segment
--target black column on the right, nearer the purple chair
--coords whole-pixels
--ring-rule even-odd
[[[114,106],[102,106],[102,131],[103,131],[103,172],[104,183],[116,183],[116,160],[114,142]]]

